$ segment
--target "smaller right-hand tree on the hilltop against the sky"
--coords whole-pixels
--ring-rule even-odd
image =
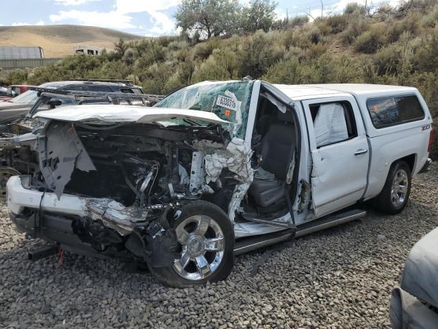
[[[275,19],[276,5],[272,0],[251,0],[242,9],[242,29],[245,32],[255,32],[258,29],[268,32]]]

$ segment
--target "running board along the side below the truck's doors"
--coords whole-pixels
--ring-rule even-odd
[[[316,219],[315,221],[302,224],[298,226],[296,230],[287,229],[280,232],[244,238],[240,241],[236,241],[234,246],[234,254],[240,255],[246,252],[252,252],[253,250],[267,247],[268,245],[274,245],[276,243],[290,240],[294,236],[298,238],[306,234],[311,234],[320,230],[325,230],[326,228],[348,223],[349,221],[354,221],[355,219],[365,217],[366,215],[367,212],[365,210],[353,209],[337,215],[329,215],[322,217],[321,219]]]

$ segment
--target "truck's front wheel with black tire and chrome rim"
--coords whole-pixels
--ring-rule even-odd
[[[234,228],[222,209],[210,202],[190,202],[170,225],[177,233],[180,256],[172,267],[149,266],[160,282],[188,287],[229,276],[234,261]]]

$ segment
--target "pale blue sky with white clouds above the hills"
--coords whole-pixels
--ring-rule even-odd
[[[173,15],[180,0],[0,0],[0,25],[77,24],[118,29],[141,36],[176,33]],[[242,4],[250,0],[240,0]],[[371,0],[368,0],[370,2]],[[375,4],[399,0],[374,0]],[[320,0],[277,0],[278,18],[310,12],[321,15]],[[347,3],[322,0],[324,14],[342,12]]]

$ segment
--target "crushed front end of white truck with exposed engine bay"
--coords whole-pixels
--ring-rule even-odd
[[[203,200],[225,214],[252,179],[250,151],[215,123],[51,120],[33,134],[38,169],[8,181],[11,219],[78,254],[172,267],[184,206]]]

